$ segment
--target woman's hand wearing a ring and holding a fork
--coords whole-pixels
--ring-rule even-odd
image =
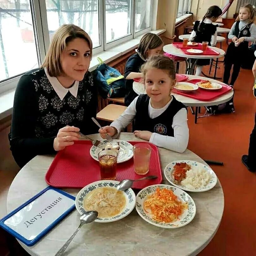
[[[64,149],[66,146],[74,144],[80,135],[77,133],[80,129],[74,126],[65,126],[59,129],[57,137],[53,141],[53,148],[55,151]]]

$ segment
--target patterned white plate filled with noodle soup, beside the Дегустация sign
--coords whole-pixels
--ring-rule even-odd
[[[113,222],[131,213],[136,196],[131,188],[125,191],[116,189],[119,181],[99,180],[83,187],[76,196],[76,210],[83,214],[96,210],[99,215],[95,222]]]

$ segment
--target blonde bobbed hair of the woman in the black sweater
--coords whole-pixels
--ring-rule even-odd
[[[60,56],[68,43],[76,38],[82,38],[88,42],[90,59],[92,59],[92,40],[89,35],[76,25],[62,25],[52,37],[49,49],[41,68],[46,68],[50,76],[59,76],[63,73]]]

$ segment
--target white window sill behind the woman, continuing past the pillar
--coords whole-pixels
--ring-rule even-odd
[[[164,33],[166,29],[159,29],[159,30],[152,30],[151,33],[160,35]],[[134,49],[136,46],[138,46],[140,39],[143,35],[136,37],[135,39],[132,39],[128,42],[125,42],[119,46],[115,46],[107,51],[98,53],[93,56],[89,71],[95,70],[99,62],[97,60],[98,57],[102,59],[103,62],[108,63],[116,58],[121,57],[127,52],[130,52],[132,49]],[[15,88],[6,91],[4,93],[0,94],[0,120],[4,119],[5,117],[12,114],[12,108],[13,108],[13,101],[14,101],[14,94],[15,94]]]

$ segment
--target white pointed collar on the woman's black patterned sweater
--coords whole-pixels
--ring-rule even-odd
[[[61,83],[58,81],[57,77],[55,76],[50,76],[47,69],[45,68],[45,73],[46,76],[48,78],[48,80],[50,81],[54,91],[57,93],[57,95],[59,96],[59,98],[61,100],[64,99],[64,97],[66,96],[66,94],[68,93],[68,91],[70,91],[70,93],[76,97],[77,96],[77,91],[78,91],[78,85],[79,85],[79,81],[75,81],[73,86],[71,86],[70,88],[65,88],[61,85]]]

